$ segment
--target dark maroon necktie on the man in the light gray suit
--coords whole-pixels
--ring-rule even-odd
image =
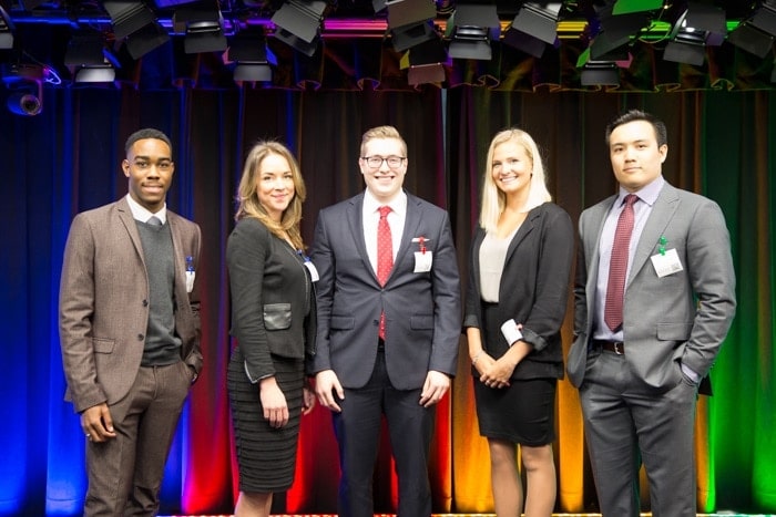
[[[627,272],[627,249],[633,234],[633,204],[639,198],[635,194],[625,196],[625,207],[620,213],[617,228],[614,230],[612,261],[609,265],[609,283],[606,285],[606,304],[603,320],[606,327],[615,331],[622,324],[622,300],[625,292],[625,273]]]

